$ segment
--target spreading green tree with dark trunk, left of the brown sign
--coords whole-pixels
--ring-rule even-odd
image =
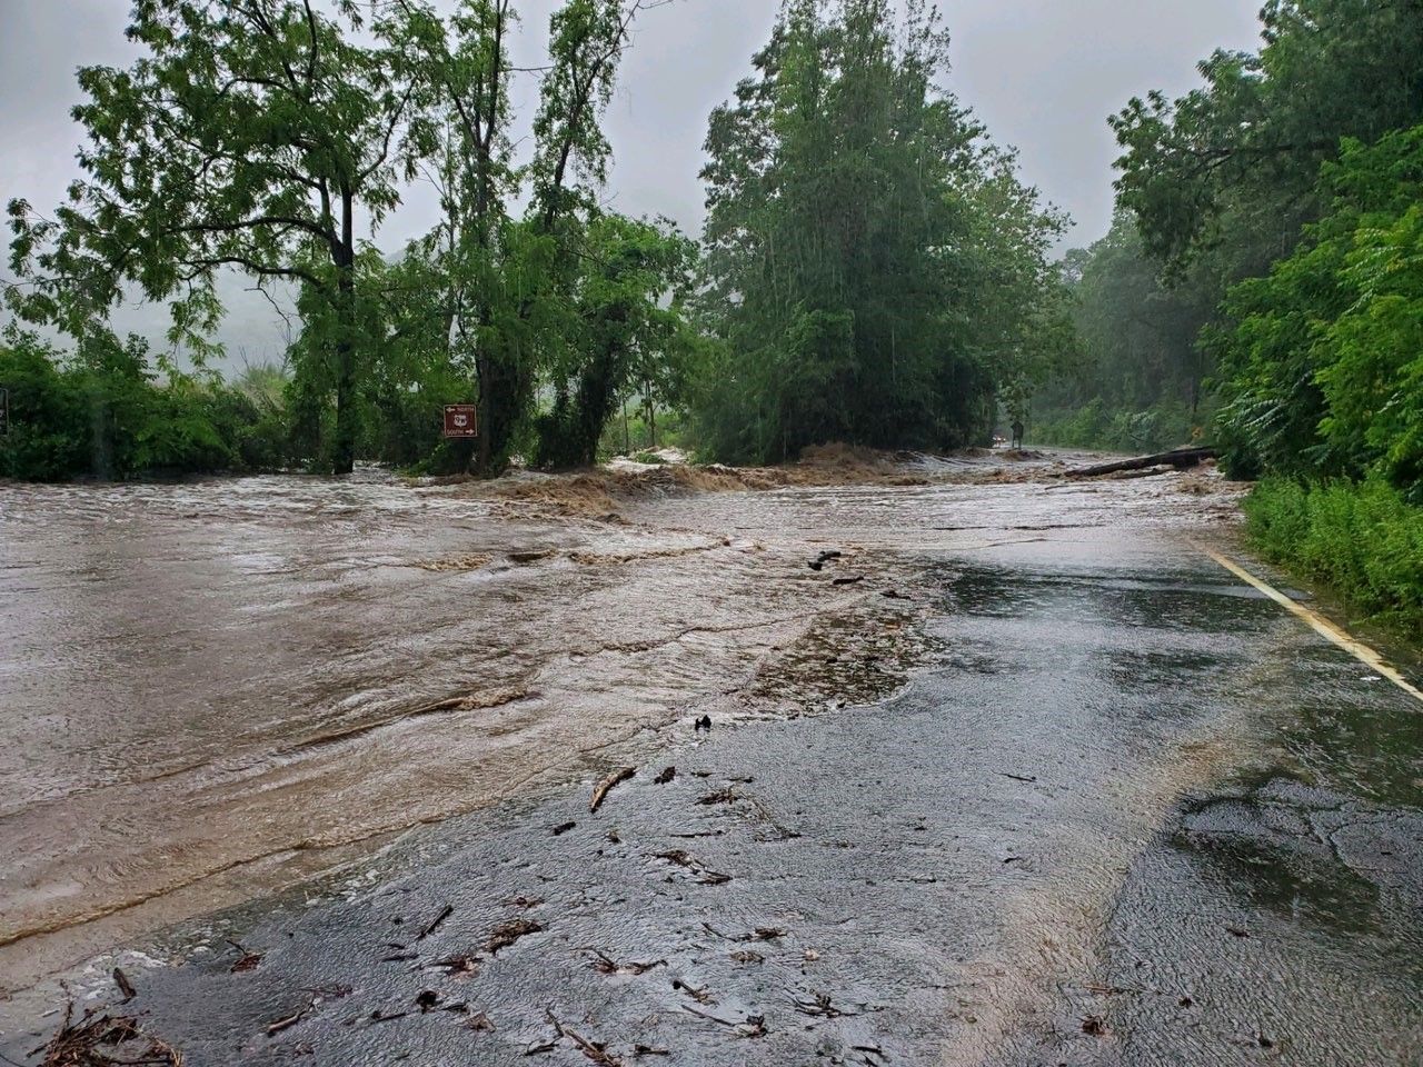
[[[172,339],[201,354],[232,269],[303,289],[307,373],[334,396],[326,448],[351,469],[359,437],[359,232],[400,201],[434,149],[408,54],[411,9],[356,0],[135,0],[125,70],[80,71],[85,178],[53,221],[11,202],[14,306],[75,337],[125,285],[172,302]],[[313,327],[319,326],[319,334]],[[303,367],[297,366],[302,377]]]

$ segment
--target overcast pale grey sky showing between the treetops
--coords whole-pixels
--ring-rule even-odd
[[[1067,243],[1101,236],[1111,216],[1116,147],[1106,118],[1134,94],[1181,92],[1215,47],[1255,48],[1259,0],[941,0],[953,37],[949,87],[993,139],[1022,154],[1023,178],[1064,208]],[[519,58],[544,51],[556,0],[524,0]],[[680,0],[642,16],[606,118],[616,155],[609,184],[629,215],[702,225],[702,141],[766,41],[778,0]],[[68,110],[74,70],[125,64],[127,0],[0,0],[0,201],[47,209],[77,176],[78,131]],[[525,63],[524,65],[528,65]],[[532,75],[515,94],[532,111]],[[433,198],[413,189],[379,235],[386,248],[433,223]],[[223,337],[233,354],[276,359],[279,330],[260,297],[235,293]],[[151,326],[131,310],[125,329]],[[122,323],[121,323],[122,324]],[[147,329],[145,329],[147,331]]]

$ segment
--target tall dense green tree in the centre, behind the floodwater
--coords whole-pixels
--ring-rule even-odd
[[[1042,336],[1059,219],[938,84],[936,17],[896,21],[889,0],[787,3],[712,115],[693,396],[720,457],[963,444]]]

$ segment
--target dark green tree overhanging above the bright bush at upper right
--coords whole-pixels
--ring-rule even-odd
[[[1423,118],[1419,0],[1268,0],[1261,23],[1259,53],[1217,51],[1202,88],[1111,120],[1147,249],[1177,266],[1214,249],[1227,282],[1264,273],[1328,206],[1316,176],[1343,138]]]

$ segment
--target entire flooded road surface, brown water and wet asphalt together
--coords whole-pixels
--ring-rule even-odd
[[[0,1051],[1420,1063],[1423,706],[1073,461],[0,487]]]

